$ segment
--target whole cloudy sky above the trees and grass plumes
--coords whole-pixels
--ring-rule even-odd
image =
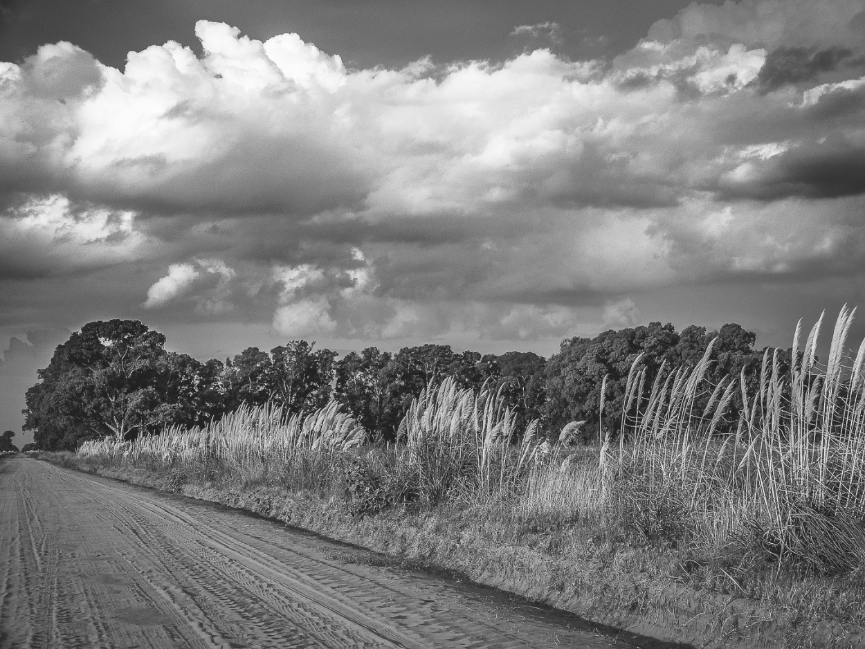
[[[863,207],[865,0],[0,0],[0,427],[97,319],[789,346],[862,305]]]

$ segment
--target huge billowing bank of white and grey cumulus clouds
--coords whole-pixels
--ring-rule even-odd
[[[632,324],[623,296],[663,287],[859,273],[863,12],[694,3],[612,61],[350,69],[208,21],[202,54],[122,70],[46,45],[0,64],[0,272],[137,260],[167,315],[515,340]]]

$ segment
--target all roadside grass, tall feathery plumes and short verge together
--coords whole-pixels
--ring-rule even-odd
[[[413,402],[395,444],[367,440],[336,403],[306,417],[267,406],[86,442],[64,461],[235,503],[263,493],[251,509],[604,621],[676,608],[706,616],[704,639],[848,646],[831,630],[865,627],[865,343],[848,348],[853,315],[837,318],[823,364],[823,318],[804,346],[800,324],[791,369],[767,352],[755,388],[745,376],[709,385],[711,347],[651,385],[638,357],[622,427],[593,449],[551,446],[537,422],[517,431],[499,395],[447,380]]]

